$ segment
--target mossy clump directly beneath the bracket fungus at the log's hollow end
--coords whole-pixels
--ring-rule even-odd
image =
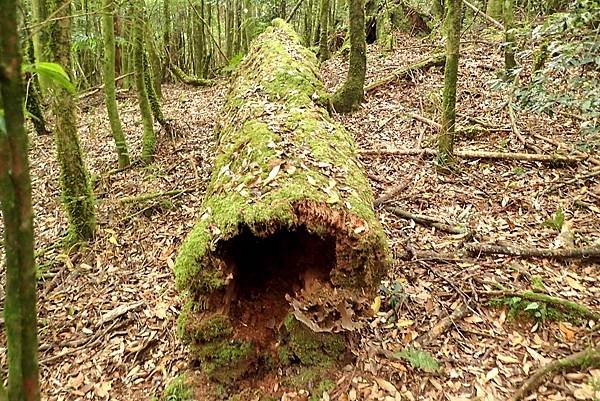
[[[278,350],[282,363],[299,360],[308,366],[329,366],[346,348],[343,334],[315,333],[291,314],[285,319],[284,326],[286,337]]]

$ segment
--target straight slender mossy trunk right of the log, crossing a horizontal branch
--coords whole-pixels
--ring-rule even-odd
[[[442,99],[442,128],[438,136],[438,164],[454,162],[454,130],[456,121],[456,84],[460,45],[462,0],[446,0],[446,65]]]

